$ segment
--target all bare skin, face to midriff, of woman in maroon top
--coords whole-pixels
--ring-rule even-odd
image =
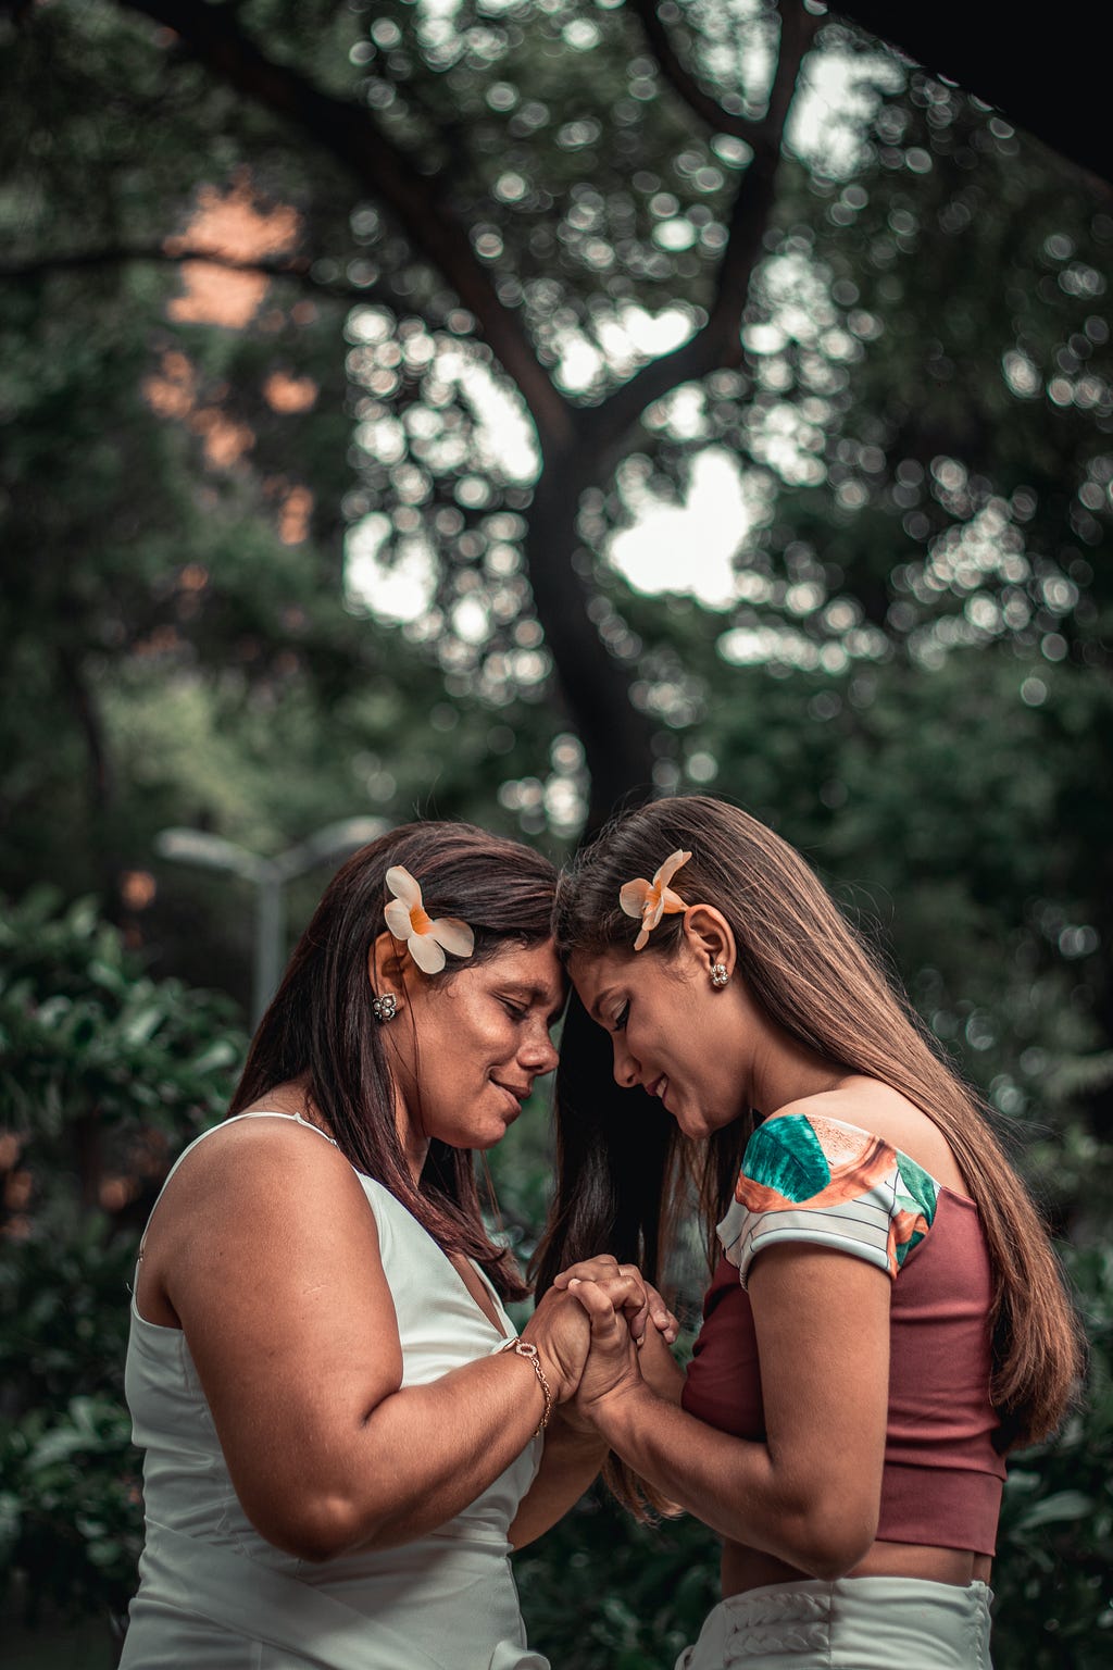
[[[731,979],[711,985],[724,964]],[[699,1139],[756,1109],[826,1114],[893,1142],[964,1192],[941,1132],[889,1086],[801,1047],[753,1000],[734,937],[691,905],[676,955],[574,957],[572,980],[612,1035],[614,1077],[659,1094]],[[888,1404],[889,1279],[838,1251],[779,1246],[749,1276],[768,1435],[748,1443],[679,1408],[674,1384],[641,1371],[604,1286],[566,1273],[592,1323],[576,1409],[651,1485],[724,1543],[724,1593],[794,1576],[904,1575],[944,1583],[988,1576],[969,1550],[876,1538]],[[849,1321],[848,1321],[849,1319]],[[836,1440],[836,1441],[833,1441]]]

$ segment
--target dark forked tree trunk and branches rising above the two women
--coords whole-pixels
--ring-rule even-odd
[[[761,122],[741,122],[704,95],[671,45],[656,8],[637,12],[649,45],[689,110],[718,132],[744,135],[754,157],[731,207],[729,235],[708,322],[671,354],[651,361],[599,406],[577,409],[537,359],[521,314],[501,301],[457,219],[444,174],[422,172],[369,109],[322,92],[309,77],[270,60],[230,17],[200,0],[120,0],[174,30],[214,75],[267,107],[335,155],[397,219],[414,250],[434,264],[467,307],[514,379],[537,426],[542,478],[526,538],[537,615],[556,663],[569,716],[584,738],[592,778],[591,823],[651,780],[651,725],[629,700],[629,673],[601,641],[587,591],[574,568],[581,494],[606,478],[624,438],[654,399],[713,369],[736,366],[749,279],[776,202],[776,174],[799,65],[816,30],[801,0],[783,0],[781,50]]]

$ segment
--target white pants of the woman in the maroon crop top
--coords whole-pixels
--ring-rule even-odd
[[[676,1670],[993,1670],[985,1583],[771,1583],[708,1615]]]

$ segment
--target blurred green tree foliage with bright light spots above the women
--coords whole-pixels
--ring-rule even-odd
[[[684,0],[666,22],[709,97],[761,109],[766,8]],[[698,326],[746,147],[671,90],[632,7],[431,18],[404,0],[257,0],[234,23],[374,112],[436,180],[507,327],[581,416],[657,352],[641,334],[654,314]],[[0,27],[18,112],[0,125],[0,224],[27,264],[0,282],[0,885],[53,873],[112,897],[167,823],[262,852],[360,810],[574,837],[586,736],[567,733],[526,578],[536,426],[461,274],[317,139],[128,5],[60,0]],[[833,97],[833,125],[793,127],[738,366],[599,449],[576,586],[649,715],[656,785],[736,795],[848,888],[883,890],[921,1005],[1023,1099],[1031,1074],[988,1072],[995,1049],[964,1037],[988,1004],[1020,1017],[1016,1054],[1045,1050],[1058,1084],[1075,1062],[1081,1086],[1108,1044],[1113,875],[1093,853],[1110,813],[1113,222],[1076,172],[834,18],[801,110],[839,67],[856,94]],[[52,266],[157,252],[242,170],[257,205],[297,212],[300,262],[242,329],[174,314],[182,279],[157,261]],[[155,416],[152,382],[179,362],[194,409]],[[274,411],[275,372],[315,404]],[[234,466],[209,458],[205,414],[250,431]],[[677,511],[709,449],[739,483],[738,539],[729,601],[698,611],[627,584],[614,539]],[[312,514],[287,544],[292,483]],[[698,568],[682,526],[681,591]],[[426,606],[397,625],[392,564],[422,563]],[[155,878],[132,929],[167,967],[200,980],[215,964],[244,990],[245,893]],[[1081,964],[1058,954],[1086,932]],[[1078,1035],[1048,1052],[1050,1015]],[[1088,1082],[1076,1101],[1105,1124],[1108,1089]]]

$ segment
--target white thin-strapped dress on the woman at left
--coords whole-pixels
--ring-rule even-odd
[[[451,1261],[382,1184],[357,1176],[379,1227],[402,1386],[489,1356],[504,1334]],[[437,1531],[314,1563],[249,1523],[184,1333],[145,1321],[135,1299],[125,1391],[144,1450],[145,1546],[120,1670],[549,1670],[526,1647],[507,1541],[541,1440]],[[297,1453],[289,1465],[295,1473]]]

